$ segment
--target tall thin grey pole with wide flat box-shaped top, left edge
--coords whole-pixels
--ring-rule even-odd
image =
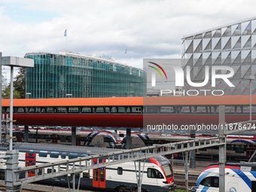
[[[11,87],[10,87],[10,148],[9,150],[13,150],[13,99],[14,99],[14,67],[34,67],[34,59],[26,59],[17,56],[2,56],[2,52],[0,52],[0,72],[2,75],[2,66],[10,66],[11,67]],[[0,90],[2,90],[2,84],[0,84]],[[0,94],[0,100],[2,100],[2,94]],[[2,102],[1,102],[2,108]],[[0,120],[2,122],[2,110],[0,110]]]

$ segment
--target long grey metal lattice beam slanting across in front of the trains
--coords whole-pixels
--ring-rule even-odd
[[[164,145],[154,145],[145,148],[136,148],[126,151],[98,154],[88,157],[79,157],[72,160],[62,160],[55,163],[44,163],[36,166],[26,166],[14,170],[14,186],[33,181],[40,181],[56,176],[69,175],[77,172],[84,172],[89,169],[96,169],[104,166],[111,166],[129,161],[145,160],[149,157],[157,157],[165,154],[174,154],[182,151],[191,151],[199,148],[224,145],[225,137],[214,137],[209,139],[195,139],[186,142],[175,142]],[[45,170],[49,170],[45,173]],[[35,171],[35,176],[28,176],[29,172]],[[24,177],[21,178],[20,175]]]

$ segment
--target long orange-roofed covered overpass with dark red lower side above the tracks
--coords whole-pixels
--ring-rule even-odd
[[[252,120],[256,119],[256,95],[252,96]],[[249,96],[163,96],[122,98],[14,99],[14,124],[28,126],[126,127],[127,148],[130,129],[147,124],[218,125],[219,105],[225,105],[226,123],[249,119]],[[2,100],[2,113],[10,113],[10,100]]]

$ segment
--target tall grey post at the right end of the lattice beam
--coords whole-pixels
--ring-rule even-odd
[[[225,106],[219,106],[219,129],[218,129],[218,136],[225,139],[226,127],[224,126],[225,123]],[[220,139],[221,140],[221,139]],[[226,163],[226,145],[219,146],[219,191],[225,192],[225,163]]]

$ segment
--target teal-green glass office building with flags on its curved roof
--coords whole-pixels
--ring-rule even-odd
[[[26,53],[35,67],[26,69],[26,98],[143,96],[146,74],[113,59],[78,53]]]

